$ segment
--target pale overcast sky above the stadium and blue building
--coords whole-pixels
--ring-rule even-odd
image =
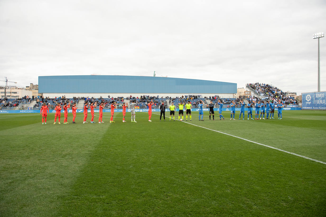
[[[317,91],[319,32],[325,0],[0,0],[0,80],[23,87],[42,75],[156,71],[299,95]],[[326,91],[326,37],[320,74]]]

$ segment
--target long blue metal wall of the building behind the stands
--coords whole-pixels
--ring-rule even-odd
[[[39,76],[40,93],[236,93],[237,84],[185,78],[63,75]]]

